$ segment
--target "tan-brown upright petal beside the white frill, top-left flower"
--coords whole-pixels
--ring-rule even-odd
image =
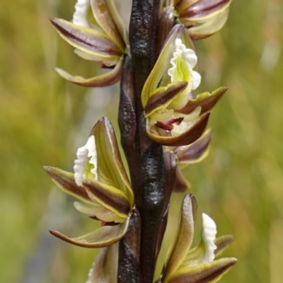
[[[91,0],[91,8],[93,10],[93,16],[96,18],[98,25],[104,30],[109,38],[115,45],[119,47],[120,52],[124,52],[125,44],[122,40],[122,37],[117,30],[117,26],[113,21],[113,18],[108,9],[108,4],[105,0]]]

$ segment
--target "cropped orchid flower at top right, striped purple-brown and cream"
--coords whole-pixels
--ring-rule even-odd
[[[192,40],[200,40],[220,30],[227,21],[232,0],[177,0],[175,12]]]

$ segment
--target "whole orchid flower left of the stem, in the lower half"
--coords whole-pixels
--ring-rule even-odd
[[[134,197],[108,118],[98,121],[86,145],[78,149],[74,173],[53,167],[45,170],[64,192],[83,201],[74,202],[79,212],[101,221],[102,225],[78,238],[69,238],[57,231],[50,233],[86,248],[109,246],[125,236]]]

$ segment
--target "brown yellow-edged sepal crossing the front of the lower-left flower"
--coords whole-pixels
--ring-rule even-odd
[[[127,218],[130,212],[130,204],[127,195],[122,190],[96,180],[83,180],[83,187],[91,200],[93,199],[115,214]]]

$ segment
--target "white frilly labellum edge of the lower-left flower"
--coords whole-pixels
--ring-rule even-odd
[[[85,179],[84,173],[87,163],[92,164],[91,173],[97,178],[97,153],[96,153],[96,140],[94,136],[88,138],[85,146],[81,146],[76,151],[77,159],[74,162],[74,178],[76,185],[81,186],[83,179]]]

